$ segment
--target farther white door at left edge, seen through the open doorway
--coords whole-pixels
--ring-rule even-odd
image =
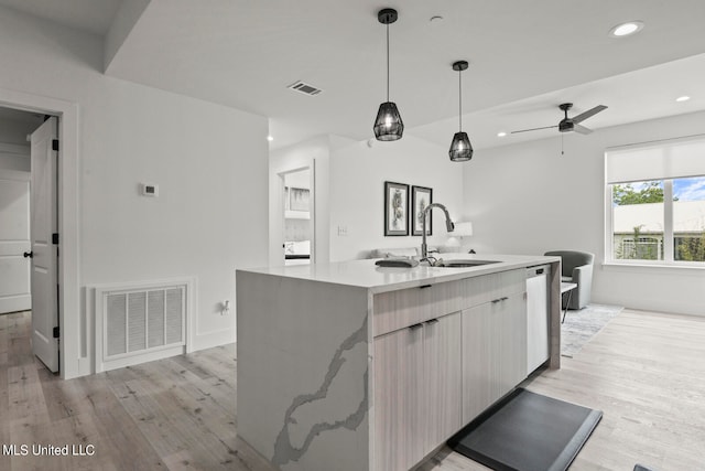
[[[0,314],[32,307],[30,250],[30,172],[0,170]]]

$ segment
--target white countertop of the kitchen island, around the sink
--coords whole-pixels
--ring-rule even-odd
[[[413,268],[388,268],[376,266],[375,263],[379,259],[366,259],[329,264],[238,269],[237,271],[347,285],[367,288],[372,292],[384,292],[561,260],[561,257],[545,257],[540,255],[469,255],[452,253],[434,255],[440,255],[444,260],[475,259],[496,260],[499,263],[466,268],[427,267],[424,265],[419,265]]]

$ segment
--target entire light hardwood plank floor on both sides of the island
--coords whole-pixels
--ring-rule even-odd
[[[61,381],[29,339],[29,313],[0,315],[0,442],[95,456],[0,456],[1,470],[271,471],[237,437],[235,345]],[[525,387],[604,411],[572,471],[705,470],[705,318],[627,310]],[[420,468],[485,469],[448,449]]]

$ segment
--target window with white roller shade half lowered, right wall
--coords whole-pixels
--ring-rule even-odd
[[[705,138],[605,153],[607,261],[705,265]]]

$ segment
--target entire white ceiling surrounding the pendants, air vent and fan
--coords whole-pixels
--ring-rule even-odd
[[[121,0],[56,3],[0,0],[101,35]],[[457,60],[470,62],[463,122],[476,149],[557,135],[496,136],[556,125],[564,101],[572,116],[607,105],[584,122],[593,129],[705,109],[703,0],[152,0],[106,73],[268,116],[272,147],[322,133],[369,139],[386,100],[384,7],[399,10],[390,98],[406,133],[443,146],[458,126]],[[646,28],[608,35],[627,20]],[[323,93],[286,88],[300,79]],[[692,99],[676,104],[681,95]]]

